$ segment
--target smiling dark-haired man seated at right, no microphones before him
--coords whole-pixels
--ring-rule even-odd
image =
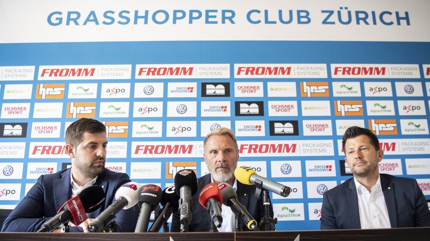
[[[417,181],[379,174],[384,151],[375,134],[350,127],[342,147],[354,178],[323,194],[321,229],[430,226],[430,211]]]

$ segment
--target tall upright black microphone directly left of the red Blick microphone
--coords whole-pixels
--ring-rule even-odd
[[[181,232],[188,232],[191,223],[191,196],[197,192],[197,176],[191,169],[180,170],[175,175],[175,192],[179,195]],[[183,227],[183,228],[182,228]]]

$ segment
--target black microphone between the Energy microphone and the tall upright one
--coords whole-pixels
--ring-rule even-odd
[[[166,187],[163,190],[163,195],[161,196],[161,205],[163,208],[157,214],[157,217],[154,219],[151,227],[148,230],[148,233],[158,233],[161,227],[167,222],[170,215],[173,213],[173,210],[176,212],[179,208],[179,196],[175,192],[175,186]]]

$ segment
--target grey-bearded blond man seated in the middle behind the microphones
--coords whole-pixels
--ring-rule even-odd
[[[237,199],[248,210],[249,214],[260,222],[265,215],[265,207],[263,200],[255,197],[254,185],[245,185],[237,182],[234,177],[234,170],[239,161],[239,148],[237,146],[236,137],[232,130],[220,127],[207,134],[203,141],[203,157],[207,165],[209,174],[198,178],[198,190],[192,197],[192,214],[191,224],[189,225],[190,232],[207,232],[211,228],[211,217],[206,209],[198,202],[198,195],[203,187],[210,183],[228,183],[236,190]],[[270,216],[273,218],[273,208],[270,205]],[[235,216],[230,207],[222,206],[223,222],[218,228],[220,232],[233,232],[235,230]],[[171,232],[180,231],[179,213],[175,212],[172,218]],[[242,230],[251,231],[242,221]],[[265,230],[265,225],[260,226],[260,230]]]

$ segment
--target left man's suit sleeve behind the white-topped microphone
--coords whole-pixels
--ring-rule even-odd
[[[122,175],[118,178],[116,182],[115,188],[111,189],[113,193],[110,193],[112,199],[106,200],[109,202],[108,205],[112,204],[115,201],[115,193],[119,187],[121,187],[125,183],[131,182],[129,176],[126,173],[122,173]],[[109,196],[109,195],[106,195]],[[135,206],[129,209],[122,209],[116,214],[115,217],[115,225],[117,227],[117,232],[132,232],[132,226],[134,222],[134,213]]]

